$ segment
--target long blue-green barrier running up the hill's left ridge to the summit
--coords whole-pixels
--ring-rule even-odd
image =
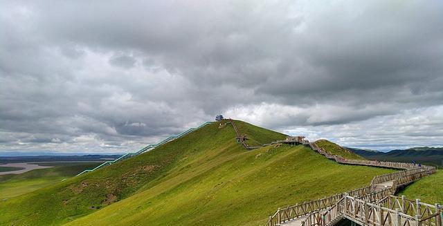
[[[138,156],[138,155],[140,155],[141,153],[145,153],[146,151],[151,151],[152,149],[155,149],[156,147],[159,147],[159,146],[161,146],[161,145],[163,145],[163,144],[166,144],[167,142],[170,142],[171,140],[175,140],[175,139],[177,139],[177,138],[181,138],[183,135],[186,135],[186,134],[188,134],[188,133],[190,133],[190,132],[192,132],[192,131],[196,131],[197,129],[200,129],[201,127],[206,126],[206,125],[208,125],[208,124],[210,124],[210,123],[211,123],[211,122],[205,122],[204,124],[201,124],[201,125],[198,126],[197,128],[191,128],[191,129],[188,129],[188,130],[186,130],[186,131],[181,132],[181,133],[178,134],[178,135],[172,135],[172,136],[166,138],[165,140],[162,140],[161,142],[158,142],[158,143],[156,143],[156,144],[149,144],[149,145],[147,145],[146,147],[144,147],[143,149],[140,149],[139,151],[136,151],[136,152],[134,152],[134,153],[125,153],[125,155],[120,156],[120,158],[117,158],[116,160],[103,162],[102,164],[100,164],[98,167],[96,167],[96,168],[94,168],[94,169],[85,169],[85,170],[82,171],[81,173],[78,173],[76,176],[80,176],[80,175],[82,175],[83,173],[88,173],[88,172],[94,171],[94,170],[96,170],[96,169],[100,169],[101,167],[106,167],[106,166],[108,166],[108,165],[110,165],[110,164],[114,164],[114,163],[116,163],[116,162],[120,162],[121,160],[125,160],[125,159],[127,159],[127,158],[131,158],[132,156]]]

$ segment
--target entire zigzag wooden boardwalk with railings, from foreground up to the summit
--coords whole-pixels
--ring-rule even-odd
[[[246,149],[270,145],[248,146],[247,136],[241,135],[233,120],[229,120],[237,135],[237,142],[242,143]],[[342,156],[327,153],[323,148],[302,136],[288,137],[286,140],[277,140],[271,144],[277,143],[301,144],[340,164],[401,169],[402,171],[375,176],[367,187],[279,208],[275,214],[269,216],[267,226],[332,226],[343,218],[364,226],[443,226],[442,205],[430,205],[418,199],[408,200],[404,196],[393,196],[400,187],[435,173],[435,167],[406,162],[348,160]]]

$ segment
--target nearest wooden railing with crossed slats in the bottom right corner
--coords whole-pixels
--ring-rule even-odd
[[[442,226],[442,206],[429,205],[405,196],[386,196],[380,202],[345,196],[325,211],[316,211],[302,221],[302,226],[334,225],[348,218],[359,225],[390,226]]]

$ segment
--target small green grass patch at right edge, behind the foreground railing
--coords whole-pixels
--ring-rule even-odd
[[[399,192],[399,196],[419,198],[424,203],[443,203],[443,171],[439,170],[431,176],[417,180]]]

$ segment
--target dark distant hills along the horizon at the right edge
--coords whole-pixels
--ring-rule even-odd
[[[443,167],[443,147],[413,147],[410,149],[395,149],[388,152],[347,147],[350,151],[370,160],[385,160],[394,162],[412,162],[432,164]]]

